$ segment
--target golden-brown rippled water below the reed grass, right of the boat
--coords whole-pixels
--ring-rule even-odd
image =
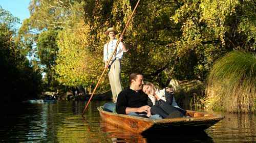
[[[225,119],[206,132],[214,142],[256,142],[256,117],[253,114],[226,113]]]

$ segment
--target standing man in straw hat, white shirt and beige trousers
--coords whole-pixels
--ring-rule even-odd
[[[103,61],[105,63],[105,68],[109,69],[109,80],[110,80],[110,87],[112,92],[112,99],[113,102],[116,103],[117,95],[122,91],[121,86],[121,59],[123,57],[123,52],[126,52],[127,49],[125,47],[125,44],[123,43],[123,37],[122,35],[119,37],[119,44],[117,46],[117,50],[114,53],[112,59],[111,55],[113,54],[117,39],[116,34],[117,31],[114,27],[108,28],[108,30],[105,32],[107,36],[110,37],[110,41],[104,45],[103,50]],[[110,61],[108,65],[108,61]]]

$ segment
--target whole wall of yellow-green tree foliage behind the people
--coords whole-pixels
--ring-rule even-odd
[[[54,45],[54,58],[39,56],[40,61],[54,62],[52,66],[41,63],[54,75],[48,78],[69,87],[91,87],[103,71],[105,30],[114,26],[121,33],[136,3],[33,0],[31,16],[19,32],[26,43],[36,44],[38,33],[54,33],[54,40],[48,39],[51,34],[45,38],[45,43]],[[172,78],[204,82],[213,63],[225,53],[255,52],[255,9],[252,0],[141,1],[124,34],[129,52],[122,60],[122,85],[127,86],[132,72],[143,73],[145,80],[160,87]],[[49,45],[42,44],[36,50],[47,49]],[[108,78],[100,88],[109,88]]]

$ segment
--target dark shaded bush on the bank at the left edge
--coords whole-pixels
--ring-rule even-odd
[[[0,24],[0,67],[2,103],[36,98],[40,93],[41,74],[23,56],[13,40],[13,31]]]

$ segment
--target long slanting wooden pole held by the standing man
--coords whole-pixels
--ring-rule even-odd
[[[126,25],[125,25],[125,27],[124,27],[124,29],[123,29],[123,32],[122,32],[121,36],[123,36],[123,34],[124,34],[124,33],[125,33],[125,31],[126,31],[127,26],[130,24],[130,21],[131,21],[131,19],[132,19],[133,15],[134,15],[134,13],[135,13],[135,10],[137,9],[137,7],[138,7],[138,5],[139,5],[139,2],[140,2],[140,0],[138,0],[137,4],[136,4],[136,6],[135,6],[135,8],[134,8],[134,10],[133,10],[133,12],[132,12],[132,15],[130,16],[129,20],[127,21],[127,23],[126,23]],[[118,39],[117,44],[116,44],[116,47],[115,47],[115,50],[114,50],[114,52],[112,53],[112,55],[111,55],[111,58],[110,58],[110,59],[112,59],[112,58],[113,58],[114,53],[116,53],[117,46],[118,46],[119,42],[120,42],[120,40]],[[110,60],[108,61],[108,64],[107,64],[107,65],[109,65],[109,64],[110,64]],[[84,113],[86,112],[86,109],[87,109],[87,107],[88,107],[88,105],[89,105],[90,101],[92,100],[93,95],[94,95],[94,93],[95,93],[96,89],[98,88],[99,82],[101,81],[101,79],[102,79],[102,77],[103,77],[103,75],[104,75],[105,71],[106,71],[106,68],[104,68],[104,70],[103,70],[103,72],[102,72],[102,74],[101,74],[101,76],[100,76],[100,78],[99,78],[99,81],[98,81],[98,83],[96,84],[96,87],[95,87],[95,88],[94,88],[94,90],[93,90],[93,93],[92,93],[92,95],[91,95],[90,99],[88,100],[88,102],[87,102],[86,106],[84,107],[84,109],[83,109],[83,111],[82,111],[82,117],[83,117]]]

